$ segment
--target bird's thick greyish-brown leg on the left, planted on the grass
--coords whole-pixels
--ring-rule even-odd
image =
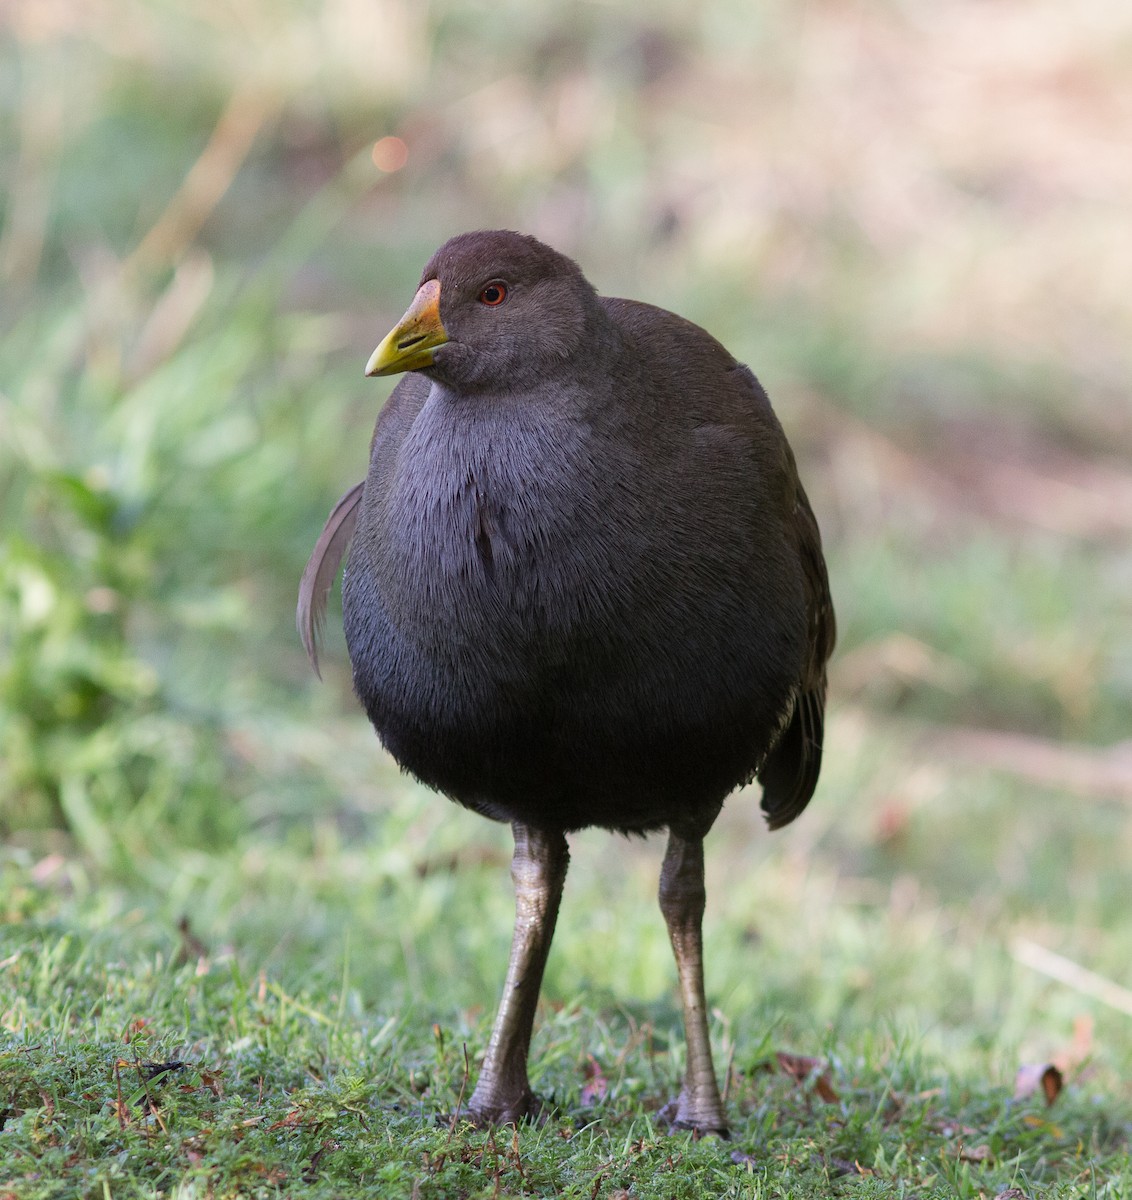
[[[539,1112],[538,1098],[527,1081],[527,1052],[570,862],[561,833],[544,833],[517,821],[511,829],[515,834],[511,960],[487,1055],[468,1104],[468,1115],[481,1126],[507,1124]]]

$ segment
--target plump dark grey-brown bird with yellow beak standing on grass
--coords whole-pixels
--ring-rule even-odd
[[[667,833],[659,904],[687,1040],[671,1129],[726,1138],[703,983],[703,839],[757,780],[772,829],[821,767],[835,625],[821,535],[754,373],[707,331],[599,295],[533,236],[447,241],[366,364],[401,374],[365,479],[303,575],[342,559],[353,684],[402,770],[509,822],[515,926],[466,1116],[545,1116],[528,1055],[587,827]]]

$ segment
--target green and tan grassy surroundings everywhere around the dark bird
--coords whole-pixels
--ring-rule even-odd
[[[1132,1195],[1132,184],[1092,83],[1127,90],[1127,16],[1094,8],[982,13],[999,64],[954,6],[0,17],[0,1198]],[[383,758],[334,619],[323,684],[293,631],[360,365],[495,224],[748,359],[822,521],[821,790],[707,845],[727,1144],[658,1128],[660,846],[594,832],[557,1115],[444,1120],[507,830]]]

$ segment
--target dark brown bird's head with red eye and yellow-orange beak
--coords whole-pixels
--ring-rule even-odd
[[[466,233],[432,256],[366,374],[424,371],[463,392],[523,390],[591,359],[601,319],[564,254],[523,234]]]

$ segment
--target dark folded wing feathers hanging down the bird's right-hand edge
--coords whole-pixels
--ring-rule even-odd
[[[821,534],[801,484],[792,526],[802,563],[809,643],[793,713],[759,770],[762,810],[772,829],[793,821],[817,786],[825,733],[826,664],[837,638]]]

